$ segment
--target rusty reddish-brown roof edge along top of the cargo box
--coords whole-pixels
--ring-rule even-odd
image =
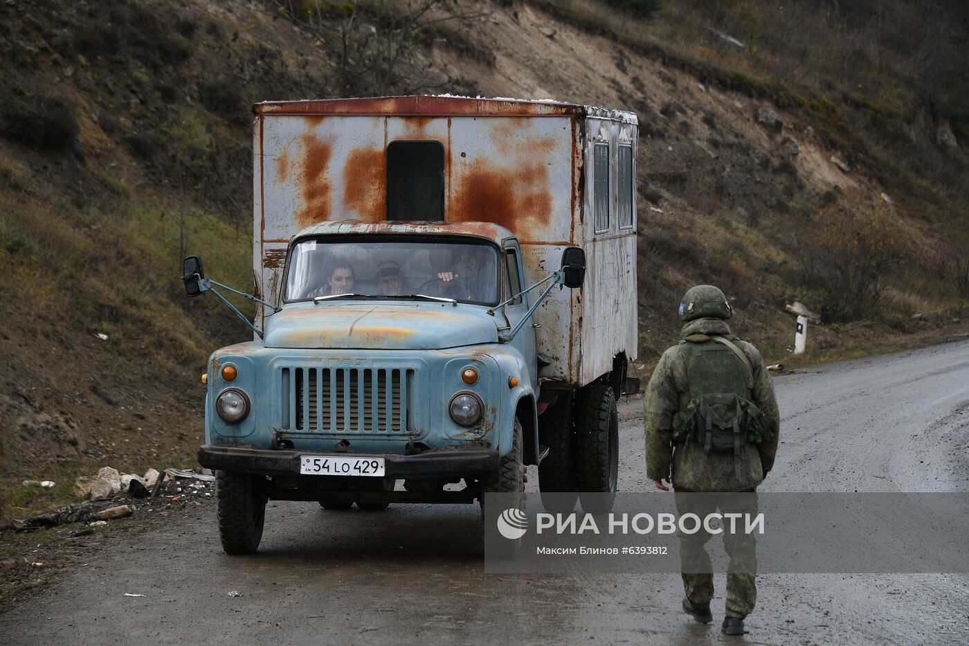
[[[411,95],[359,99],[265,101],[252,107],[256,114],[344,114],[394,116],[591,116],[639,124],[635,113],[596,106],[561,103],[552,99],[526,100],[506,97]]]

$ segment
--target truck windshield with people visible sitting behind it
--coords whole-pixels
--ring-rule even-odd
[[[285,300],[434,296],[496,305],[498,271],[498,250],[486,242],[307,239],[290,254]]]

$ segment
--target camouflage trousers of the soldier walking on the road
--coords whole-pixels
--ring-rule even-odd
[[[757,494],[755,492],[700,494],[676,492],[676,510],[683,514],[696,514],[701,522],[708,514],[717,509],[721,514],[739,513],[757,515]],[[693,528],[688,519],[686,527]],[[743,517],[736,522],[736,532],[730,532],[730,521],[724,519],[718,524],[723,528],[724,547],[730,556],[727,568],[727,608],[726,616],[743,619],[754,609],[757,602],[757,538],[754,533],[745,533]],[[713,535],[703,525],[697,533],[677,532],[679,538],[680,571],[683,575],[683,589],[686,598],[694,605],[706,607],[713,598],[713,570],[710,557],[704,545]]]

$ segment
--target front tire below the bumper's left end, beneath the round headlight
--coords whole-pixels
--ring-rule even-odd
[[[219,537],[226,554],[255,554],[266,522],[264,478],[248,473],[218,471]]]

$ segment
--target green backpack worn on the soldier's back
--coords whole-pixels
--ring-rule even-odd
[[[761,443],[767,428],[764,411],[750,401],[750,360],[725,337],[690,335],[681,342],[689,392],[680,395],[673,442],[695,441],[707,454],[733,452],[740,479],[742,447]]]

